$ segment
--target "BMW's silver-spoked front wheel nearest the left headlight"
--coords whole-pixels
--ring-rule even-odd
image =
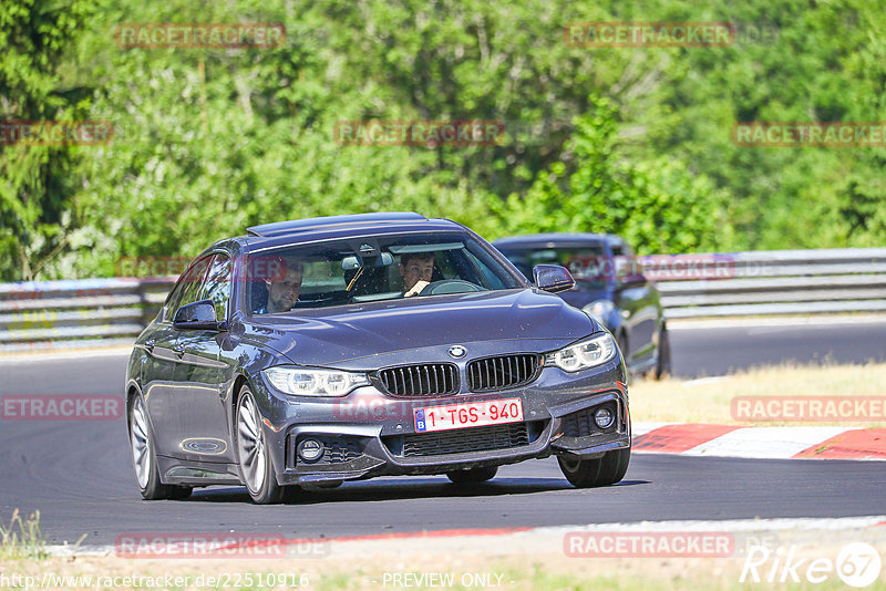
[[[253,502],[271,505],[291,499],[296,487],[284,487],[277,484],[265,429],[261,427],[261,414],[258,412],[258,404],[248,386],[240,390],[237,400],[235,439],[240,480],[246,485]]]

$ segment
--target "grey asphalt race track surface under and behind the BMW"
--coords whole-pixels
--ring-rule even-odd
[[[764,332],[759,332],[759,331]],[[676,370],[715,375],[766,360],[886,359],[879,325],[679,330]],[[115,394],[125,355],[0,360],[0,395]],[[261,532],[293,538],[421,529],[593,522],[846,517],[886,514],[886,463],[749,460],[635,455],[614,487],[577,490],[556,460],[507,466],[486,485],[444,477],[380,478],[258,507],[243,488],[196,490],[190,499],[141,499],[123,419],[0,422],[0,518],[39,509],[50,542],[113,543],[134,532]]]

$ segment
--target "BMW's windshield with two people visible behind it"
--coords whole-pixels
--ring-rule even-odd
[[[523,287],[466,234],[362,236],[251,253],[250,314]]]

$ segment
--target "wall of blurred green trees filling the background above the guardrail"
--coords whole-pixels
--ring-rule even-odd
[[[111,276],[251,224],[409,209],[486,238],[641,253],[882,246],[879,147],[740,147],[735,122],[886,121],[863,0],[6,0],[0,118],[109,146],[0,146],[0,280]],[[727,48],[586,49],[576,21],[729,21]],[[279,22],[277,49],[122,49],[121,23]],[[496,120],[496,146],[347,146],[343,120]]]

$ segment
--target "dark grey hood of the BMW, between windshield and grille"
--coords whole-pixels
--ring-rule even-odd
[[[306,309],[247,323],[251,340],[292,363],[339,369],[451,361],[441,353],[454,344],[480,344],[471,356],[549,351],[598,330],[584,312],[534,289]]]

